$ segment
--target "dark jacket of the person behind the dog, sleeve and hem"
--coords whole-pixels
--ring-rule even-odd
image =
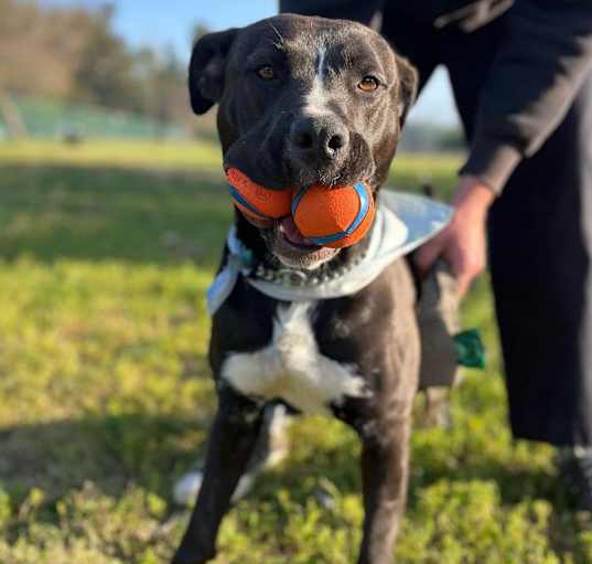
[[[353,18],[362,9],[367,13],[368,4],[380,10],[388,1],[409,18],[431,22],[434,32],[456,26],[471,33],[507,12],[507,38],[484,88],[462,169],[499,192],[518,162],[562,121],[592,71],[592,0],[281,0],[280,6],[332,17],[349,10]]]

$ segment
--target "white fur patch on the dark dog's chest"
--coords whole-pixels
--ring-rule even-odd
[[[314,301],[278,306],[271,342],[260,351],[229,354],[222,377],[245,395],[281,398],[304,413],[329,414],[345,396],[366,397],[355,366],[319,352],[311,326]]]

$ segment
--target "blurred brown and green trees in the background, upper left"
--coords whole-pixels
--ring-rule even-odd
[[[186,67],[169,47],[132,50],[114,31],[115,8],[47,8],[0,0],[0,114],[22,130],[14,100],[35,95],[186,124]],[[196,34],[206,33],[197,25]]]

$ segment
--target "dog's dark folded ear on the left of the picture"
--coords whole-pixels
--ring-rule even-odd
[[[224,73],[236,28],[201,38],[193,47],[190,62],[190,98],[195,114],[205,114],[224,91]]]

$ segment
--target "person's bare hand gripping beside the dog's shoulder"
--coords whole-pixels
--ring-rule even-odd
[[[442,257],[452,268],[463,297],[486,264],[485,222],[487,210],[495,199],[489,187],[471,175],[461,177],[452,199],[455,209],[450,224],[435,237],[419,247],[413,260],[424,276]]]

